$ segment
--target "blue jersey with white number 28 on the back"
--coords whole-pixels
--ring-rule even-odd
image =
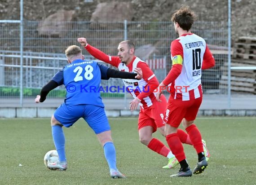
[[[95,61],[75,60],[53,76],[53,81],[66,86],[65,104],[91,104],[104,107],[100,96],[101,79],[109,79],[109,68]],[[63,75],[62,75],[63,74]]]

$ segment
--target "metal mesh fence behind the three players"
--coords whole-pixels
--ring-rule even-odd
[[[227,71],[227,22],[195,22],[192,32],[203,37],[216,59],[216,66],[203,71],[204,93],[226,94],[219,86]],[[0,22],[0,97],[35,97],[49,79],[67,64],[64,54],[69,45],[79,45],[78,37],[109,55],[117,54],[122,40],[132,40],[136,55],[145,60],[162,81],[170,70],[170,42],[177,38],[172,22],[23,22],[23,65],[21,73],[20,23]],[[94,59],[83,49],[86,59]],[[22,78],[22,80],[21,80]],[[102,86],[124,86],[121,79],[102,80]],[[50,97],[65,97],[65,87],[58,87]],[[102,93],[103,97],[126,98],[124,93]]]

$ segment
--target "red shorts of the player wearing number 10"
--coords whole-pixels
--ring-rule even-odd
[[[169,98],[163,120],[172,127],[178,128],[183,118],[192,121],[196,118],[203,97],[182,101]]]

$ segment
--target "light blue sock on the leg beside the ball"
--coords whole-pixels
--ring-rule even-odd
[[[59,155],[59,161],[66,161],[65,136],[62,127],[60,125],[52,126],[52,135],[55,148]]]

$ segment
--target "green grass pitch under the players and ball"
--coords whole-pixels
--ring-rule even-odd
[[[255,185],[256,118],[206,117],[196,124],[211,153],[208,168],[200,175],[172,178],[179,167],[163,169],[167,159],[149,150],[138,139],[137,118],[110,118],[117,166],[127,179],[111,179],[104,153],[87,123],[79,120],[64,128],[65,172],[44,166],[44,154],[54,150],[49,119],[0,119],[1,185]],[[166,144],[159,132],[154,133]],[[197,154],[184,145],[191,169]],[[21,164],[22,166],[19,166]]]

